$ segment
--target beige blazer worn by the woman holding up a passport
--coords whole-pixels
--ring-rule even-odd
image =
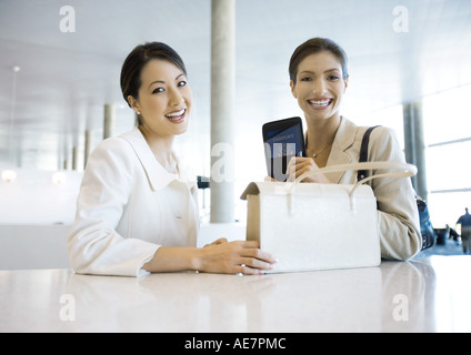
[[[361,140],[367,129],[342,118],[327,165],[359,162]],[[371,133],[368,156],[369,161],[405,162],[394,131],[385,126],[378,126]],[[332,173],[328,178],[333,183],[351,184],[357,182],[357,171]],[[411,258],[422,246],[419,212],[411,180],[382,178],[372,180],[370,185],[378,201],[381,257]]]

